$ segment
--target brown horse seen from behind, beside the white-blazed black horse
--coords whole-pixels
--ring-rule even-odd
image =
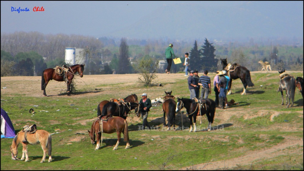
[[[175,97],[171,95],[171,92],[166,92],[166,96],[164,96],[164,102],[162,106],[162,110],[164,113],[164,126],[166,126],[166,116],[168,119],[168,130],[170,130],[171,126],[175,127]]]

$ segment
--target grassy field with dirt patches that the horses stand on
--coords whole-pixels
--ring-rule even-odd
[[[303,72],[291,73],[303,76]],[[294,107],[281,105],[277,71],[251,72],[255,86],[247,88],[247,95],[240,94],[240,79],[233,80],[233,94],[227,97],[239,105],[216,109],[212,131],[204,131],[208,121],[206,116],[199,116],[199,131],[189,132],[185,109],[175,120],[185,129],[166,131],[162,127],[162,104],[157,103],[148,116],[153,130],[138,130],[142,120],[134,114],[128,116],[130,149],[124,149],[126,142],[121,142],[113,151],[117,141],[113,133],[103,134],[102,146],[94,150],[87,130],[97,116],[99,102],[131,93],[140,100],[143,92],[152,100],[171,90],[175,97],[189,98],[183,75],[157,74],[157,83],[163,86],[144,87],[136,82],[137,74],[84,72],[83,78],[77,77],[75,94],[66,96],[66,84],[53,80],[46,88],[48,97],[40,88],[41,77],[1,77],[1,107],[16,132],[34,123],[38,129],[58,132],[52,135],[51,163],[39,163],[43,156],[40,145],[28,146],[29,162],[12,160],[12,139],[2,138],[1,170],[303,170],[303,98],[296,89]],[[208,74],[211,80],[214,75]],[[213,91],[209,98],[215,99]],[[30,108],[34,114],[29,113]],[[21,158],[22,146],[18,149]]]

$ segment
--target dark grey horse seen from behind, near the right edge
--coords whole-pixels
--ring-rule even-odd
[[[286,105],[289,107],[290,105],[290,99],[293,101],[295,99],[295,78],[285,73],[285,69],[282,71],[278,71],[280,73],[280,81],[279,81],[279,89],[278,91],[281,92],[282,96],[282,105],[284,105],[284,96],[283,96],[283,90],[286,92]]]

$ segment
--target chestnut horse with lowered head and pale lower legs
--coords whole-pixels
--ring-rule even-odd
[[[100,126],[102,125],[102,127]],[[96,139],[96,150],[99,149],[99,144],[102,143],[102,132],[104,133],[117,133],[117,143],[114,146],[113,150],[116,150],[118,147],[118,144],[120,143],[120,138],[121,138],[121,132],[123,132],[123,141],[127,142],[127,145],[125,149],[130,148],[129,144],[129,132],[128,132],[128,122],[121,118],[121,117],[112,117],[109,118],[107,122],[101,121],[99,119],[96,119],[91,126],[91,131],[89,131],[89,136],[91,139],[91,143],[95,143]]]

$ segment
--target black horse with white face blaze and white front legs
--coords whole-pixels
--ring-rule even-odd
[[[194,131],[196,131],[196,116],[202,116],[206,114],[208,119],[208,131],[211,130],[211,124],[213,123],[216,104],[212,99],[204,99],[203,103],[198,103],[194,99],[177,98],[176,112],[179,112],[182,108],[186,108],[188,117],[190,119],[190,131],[192,131],[192,117],[194,123]]]

